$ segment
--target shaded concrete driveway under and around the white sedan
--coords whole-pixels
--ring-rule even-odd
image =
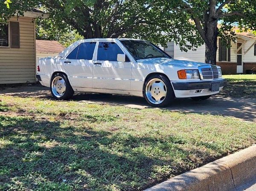
[[[17,97],[38,97],[52,99],[49,88],[41,86],[20,86],[15,88],[0,89],[0,95]],[[98,103],[109,105],[124,105],[131,108],[151,108],[140,97],[118,96],[109,94],[78,94],[73,100],[83,103]],[[212,97],[205,101],[193,101],[191,99],[176,99],[166,107],[172,111],[203,113],[236,117],[246,121],[256,121],[256,99]]]

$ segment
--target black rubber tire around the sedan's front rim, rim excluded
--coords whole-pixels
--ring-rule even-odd
[[[167,94],[166,97],[164,99],[164,101],[162,103],[159,104],[154,104],[151,103],[147,96],[146,96],[146,86],[148,84],[149,81],[151,81],[152,79],[157,78],[160,79],[164,82],[165,86],[166,86],[166,90],[167,90]],[[170,82],[170,80],[168,78],[166,78],[165,76],[161,75],[161,74],[154,74],[152,76],[150,76],[144,83],[143,86],[143,96],[145,97],[145,100],[148,102],[149,105],[153,106],[153,107],[164,107],[166,105],[169,105],[170,103],[172,103],[172,101],[175,99],[175,94],[172,88],[172,84]]]

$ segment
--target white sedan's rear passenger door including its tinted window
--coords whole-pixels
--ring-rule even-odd
[[[73,87],[93,87],[93,53],[96,42],[79,44],[63,60],[64,69],[67,71]]]

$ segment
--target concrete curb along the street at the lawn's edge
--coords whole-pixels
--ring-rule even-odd
[[[256,175],[256,145],[145,191],[230,191]]]

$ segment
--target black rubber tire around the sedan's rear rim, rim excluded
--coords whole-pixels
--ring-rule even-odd
[[[61,77],[61,78],[63,78],[64,81],[65,81],[65,83],[66,83],[66,91],[65,91],[64,95],[61,96],[61,97],[56,97],[56,96],[54,95],[54,93],[52,92],[52,81],[53,81],[53,79],[54,79],[55,77]],[[57,73],[57,74],[55,74],[55,75],[52,76],[52,79],[51,79],[51,93],[52,93],[52,96],[53,96],[56,100],[70,100],[70,98],[71,98],[71,97],[73,96],[73,94],[74,94],[74,90],[73,90],[73,88],[71,87],[70,82],[69,82],[69,80],[67,79],[67,76],[66,76],[66,75],[61,74],[61,73]]]

